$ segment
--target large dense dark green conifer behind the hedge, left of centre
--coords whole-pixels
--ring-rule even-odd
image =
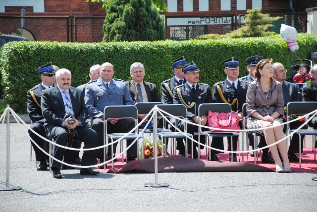
[[[163,19],[151,0],[112,0],[106,13],[104,42],[165,39]]]

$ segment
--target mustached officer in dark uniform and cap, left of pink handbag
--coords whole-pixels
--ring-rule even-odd
[[[198,124],[198,107],[200,104],[213,103],[211,97],[211,90],[209,85],[199,82],[199,69],[197,65],[192,61],[182,68],[187,82],[174,88],[174,104],[183,104],[187,107],[187,121]],[[208,124],[208,118],[202,118],[202,125]],[[178,121],[178,127],[183,131],[185,123]],[[187,124],[187,132],[194,136],[195,132],[198,132],[198,126],[193,124]],[[198,136],[194,136],[194,139],[198,141]],[[204,139],[203,142],[204,143]],[[191,142],[188,142],[187,153],[191,154]],[[198,152],[196,147],[197,143],[194,142],[193,158],[198,159]],[[185,146],[183,142],[177,142],[178,155],[184,156]]]

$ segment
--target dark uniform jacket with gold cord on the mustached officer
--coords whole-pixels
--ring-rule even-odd
[[[180,96],[178,95],[177,89],[180,91]],[[196,116],[198,115],[198,107],[200,104],[213,103],[210,87],[205,83],[197,83],[196,92],[194,94],[188,83],[177,86],[174,88],[173,103],[187,105],[185,105],[187,107],[187,118]],[[195,103],[195,105],[188,107],[192,103]]]

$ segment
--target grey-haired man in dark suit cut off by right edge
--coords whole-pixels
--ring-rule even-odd
[[[312,82],[305,86],[302,90],[303,102],[317,102],[317,64],[312,67],[310,74],[312,75]],[[317,129],[317,116],[310,120],[308,125],[314,127],[314,129]],[[315,147],[317,146],[316,143]]]

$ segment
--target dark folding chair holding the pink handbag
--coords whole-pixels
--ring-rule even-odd
[[[212,112],[231,112],[231,106],[227,103],[211,103],[211,104],[201,104],[198,107],[198,116],[199,116],[199,124],[201,124],[201,118],[205,115],[208,115],[208,111]],[[230,144],[231,144],[231,151],[232,151],[232,137],[237,136],[238,137],[238,149],[240,149],[239,145],[239,133],[236,132],[211,132],[211,131],[202,131],[200,128],[200,133],[205,135],[205,138],[208,138],[206,140],[206,145],[211,147],[211,137],[230,137]],[[198,141],[200,142],[200,136],[198,136]],[[228,141],[229,142],[229,141]],[[206,158],[208,158],[208,155],[206,153]],[[231,153],[231,158],[233,159],[233,153]],[[209,159],[211,160],[211,149],[209,149]],[[240,153],[239,153],[239,161],[240,161]]]

